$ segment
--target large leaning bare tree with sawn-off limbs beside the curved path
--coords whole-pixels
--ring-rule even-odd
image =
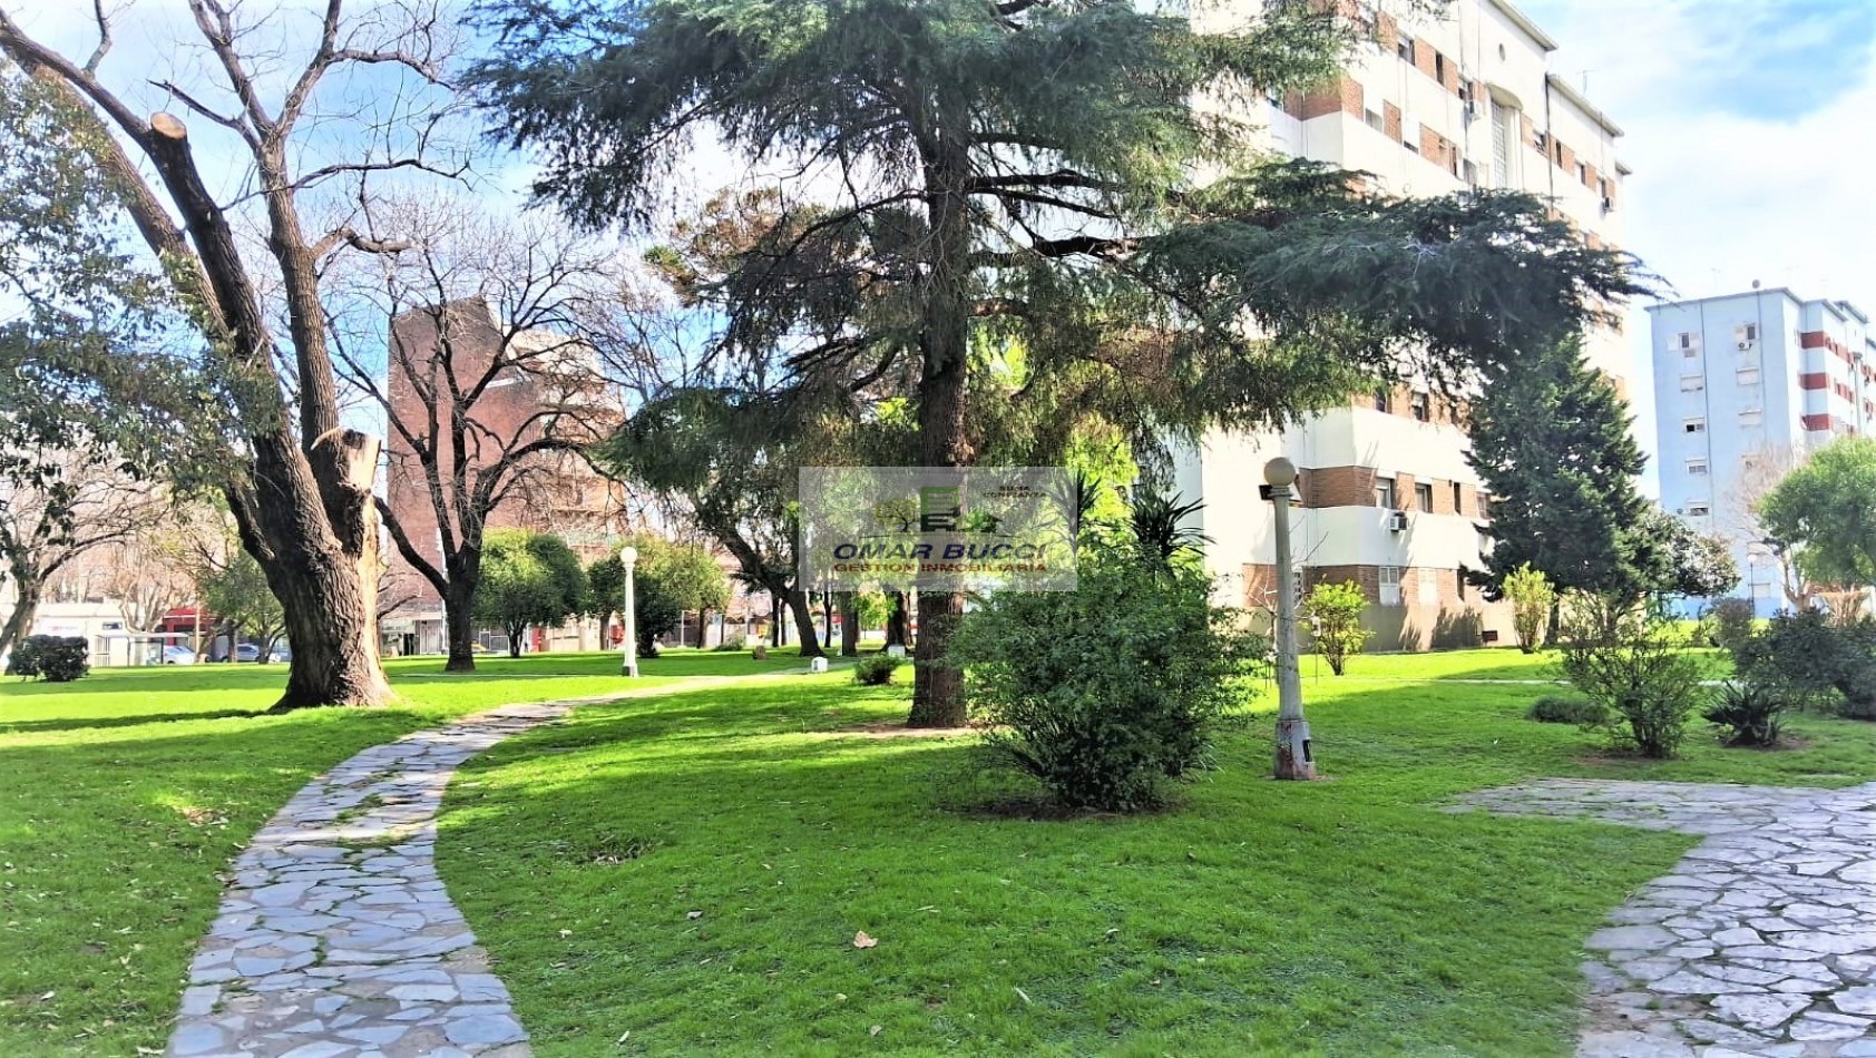
[[[437,161],[437,131],[456,107],[443,86],[454,21],[443,0],[386,0],[360,13],[326,0],[295,60],[255,36],[266,15],[246,21],[233,0],[188,0],[188,9],[210,73],[158,84],[176,113],[137,113],[126,90],[141,77],[107,83],[103,4],[98,47],[83,60],[34,39],[9,11],[0,11],[0,54],[69,103],[83,126],[75,139],[116,186],[208,340],[204,377],[240,413],[244,435],[218,484],[242,546],[287,608],[295,655],[276,709],[385,702],[371,497],[379,441],[340,422],[321,281],[338,253],[400,248],[370,229],[377,180],[460,171]],[[210,189],[189,122],[251,163],[248,193]],[[341,156],[326,161],[332,144]],[[334,188],[358,208],[310,225],[311,204]],[[236,234],[250,216],[263,253]],[[278,306],[266,296],[274,283]]]

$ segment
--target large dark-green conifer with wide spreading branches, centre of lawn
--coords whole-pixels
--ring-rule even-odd
[[[537,193],[595,225],[649,225],[698,137],[801,165],[816,219],[715,285],[720,349],[762,388],[899,385],[927,465],[983,454],[987,347],[1021,349],[1019,394],[1062,418],[1099,401],[1144,439],[1287,422],[1403,366],[1463,373],[1630,291],[1535,199],[1399,201],[1263,163],[1231,114],[1328,79],[1354,34],[1328,4],[1253,8],[488,0],[475,79],[501,135],[540,148]],[[961,608],[919,595],[921,662]],[[961,673],[921,664],[912,722],[962,718]]]

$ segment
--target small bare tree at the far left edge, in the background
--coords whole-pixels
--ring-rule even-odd
[[[88,555],[163,520],[163,490],[124,475],[109,458],[41,452],[41,480],[0,478],[0,576],[15,600],[0,623],[0,655],[32,628],[47,585]]]

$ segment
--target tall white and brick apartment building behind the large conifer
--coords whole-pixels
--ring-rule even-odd
[[[1369,39],[1334,84],[1268,105],[1272,146],[1371,173],[1398,195],[1531,191],[1589,246],[1617,246],[1623,133],[1548,69],[1555,41],[1501,0],[1456,0],[1439,17],[1399,8],[1341,4]],[[1585,353],[1626,392],[1619,330],[1593,328]],[[1360,583],[1381,649],[1508,643],[1508,608],[1463,582],[1482,567],[1488,518],[1467,445],[1458,409],[1401,386],[1281,433],[1212,433],[1178,454],[1174,488],[1206,505],[1206,561],[1225,602],[1272,604],[1274,518],[1257,486],[1264,461],[1283,454],[1302,471],[1298,589]]]

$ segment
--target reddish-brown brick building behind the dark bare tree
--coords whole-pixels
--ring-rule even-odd
[[[505,323],[482,298],[413,310],[392,321],[385,403],[385,503],[431,563],[443,553],[437,505],[454,535],[460,499],[478,488],[495,497],[490,529],[557,533],[583,561],[604,555],[632,521],[623,486],[576,452],[542,448],[546,439],[593,441],[621,422],[619,400],[580,341]],[[454,407],[467,420],[460,482],[450,471]],[[420,456],[431,446],[435,482]],[[443,653],[441,597],[390,540],[385,555],[386,651]],[[529,649],[597,649],[600,630],[589,625],[540,630]]]

